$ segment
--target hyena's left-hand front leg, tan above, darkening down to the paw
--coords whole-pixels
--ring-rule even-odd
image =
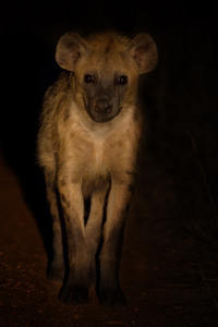
[[[72,180],[72,179],[71,179]],[[85,243],[84,198],[81,182],[59,183],[60,201],[65,222],[69,276],[60,291],[64,303],[88,301],[88,252]]]

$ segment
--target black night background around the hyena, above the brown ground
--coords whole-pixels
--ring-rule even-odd
[[[44,202],[36,135],[44,93],[60,71],[55,62],[59,37],[69,31],[85,35],[109,28],[131,37],[147,32],[157,43],[159,63],[141,78],[147,126],[142,157],[148,152],[155,165],[172,177],[181,208],[187,206],[195,215],[206,194],[214,221],[202,211],[197,217],[213,230],[217,227],[217,13],[216,0],[4,3],[0,142],[33,210]]]

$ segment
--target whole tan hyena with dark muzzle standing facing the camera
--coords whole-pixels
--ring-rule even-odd
[[[157,48],[143,33],[132,40],[68,33],[56,60],[63,71],[45,95],[38,134],[53,229],[49,277],[63,280],[61,301],[85,303],[98,262],[100,304],[123,305],[119,262],[141,137],[137,82],[156,66]]]

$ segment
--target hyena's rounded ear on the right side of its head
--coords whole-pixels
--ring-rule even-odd
[[[157,46],[148,34],[140,33],[136,35],[131,40],[129,49],[136,61],[140,74],[148,73],[157,65]]]

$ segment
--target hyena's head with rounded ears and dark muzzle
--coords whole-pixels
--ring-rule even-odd
[[[158,56],[147,34],[130,40],[113,33],[87,39],[68,33],[58,43],[56,60],[73,72],[75,99],[81,107],[94,121],[107,122],[126,105],[135,104],[138,75],[152,71]]]

